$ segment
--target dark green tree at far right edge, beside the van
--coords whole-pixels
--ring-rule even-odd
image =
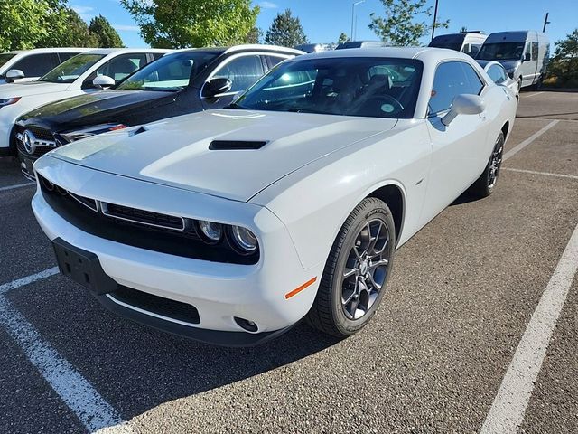
[[[578,29],[555,42],[554,57],[548,63],[546,85],[578,88]]]

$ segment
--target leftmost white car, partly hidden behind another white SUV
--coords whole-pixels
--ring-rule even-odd
[[[34,50],[0,53],[0,84],[38,80],[89,48],[36,48]],[[8,77],[6,77],[6,75]]]

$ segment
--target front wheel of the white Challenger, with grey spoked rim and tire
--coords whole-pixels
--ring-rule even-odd
[[[307,315],[330,335],[353,335],[375,314],[387,288],[396,228],[387,204],[364,199],[350,213],[333,242],[322,281]]]

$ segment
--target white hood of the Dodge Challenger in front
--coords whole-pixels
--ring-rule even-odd
[[[386,118],[219,109],[79,140],[48,156],[247,202],[303,165],[395,125],[396,119]],[[266,145],[211,150],[213,140]]]

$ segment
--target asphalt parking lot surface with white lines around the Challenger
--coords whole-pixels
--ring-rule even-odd
[[[578,432],[577,137],[578,93],[522,93],[496,193],[397,251],[368,327],[248,349],[128,323],[54,275],[33,187],[0,160],[0,432]]]

